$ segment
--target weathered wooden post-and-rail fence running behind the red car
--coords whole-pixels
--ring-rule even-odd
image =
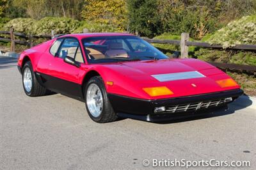
[[[87,33],[88,29],[84,29],[84,33]],[[15,43],[20,45],[27,45],[32,47],[33,40],[35,38],[47,38],[51,39],[54,37],[54,31],[51,31],[51,35],[25,35],[22,33],[15,33],[13,28],[11,27],[10,31],[0,31],[0,35],[10,35],[10,38],[2,38],[0,36],[0,42],[11,42],[11,49],[15,52]],[[26,39],[26,41],[16,40],[15,36],[19,36],[20,38]],[[188,58],[188,47],[189,46],[196,46],[196,47],[203,47],[203,48],[210,48],[210,49],[223,49],[221,45],[210,44],[205,42],[189,42],[189,34],[182,33],[181,40],[155,40],[149,38],[143,38],[149,43],[167,43],[172,45],[180,45],[180,58]],[[236,47],[228,47],[228,50],[250,50],[256,52],[256,45],[236,45]],[[223,70],[236,70],[240,72],[247,72],[256,74],[256,66],[252,65],[237,65],[232,63],[215,63],[215,62],[208,62],[211,65],[217,66]]]

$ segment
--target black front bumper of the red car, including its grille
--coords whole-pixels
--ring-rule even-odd
[[[121,117],[147,121],[163,121],[202,114],[205,113],[206,110],[207,112],[211,112],[226,107],[227,104],[231,102],[224,102],[225,98],[231,97],[232,101],[234,101],[241,95],[243,95],[243,90],[234,89],[160,100],[143,100],[110,93],[108,94],[108,98],[114,111]],[[198,107],[198,105],[200,105],[200,107]],[[163,106],[169,110],[166,109],[164,112],[154,112],[156,107]]]

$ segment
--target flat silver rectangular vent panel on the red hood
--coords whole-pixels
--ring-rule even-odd
[[[151,75],[157,81],[164,82],[164,81],[177,81],[177,80],[184,80],[184,79],[195,79],[205,77],[202,73],[198,71],[192,72],[180,72],[180,73],[164,73],[164,74],[156,74]]]

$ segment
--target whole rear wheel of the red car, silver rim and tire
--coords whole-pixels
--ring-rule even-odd
[[[22,68],[22,82],[23,89],[29,97],[43,96],[47,93],[47,89],[36,80],[30,61],[25,63]]]

